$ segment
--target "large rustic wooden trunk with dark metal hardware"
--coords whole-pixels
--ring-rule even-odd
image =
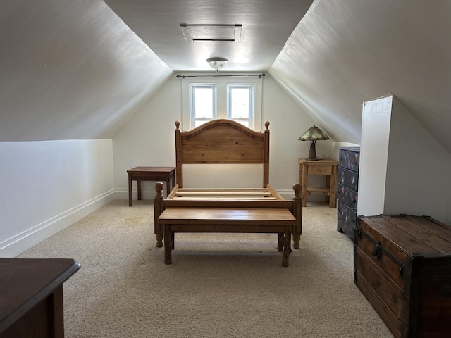
[[[395,337],[451,337],[451,227],[426,216],[359,217],[354,282]]]

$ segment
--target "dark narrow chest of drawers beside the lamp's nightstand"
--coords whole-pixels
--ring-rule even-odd
[[[338,158],[337,231],[354,237],[359,190],[359,147],[342,147]]]

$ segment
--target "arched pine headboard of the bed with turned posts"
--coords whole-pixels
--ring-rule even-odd
[[[269,122],[264,132],[255,132],[233,120],[211,120],[188,132],[175,121],[175,166],[177,184],[183,187],[183,164],[261,163],[263,186],[269,182]]]

